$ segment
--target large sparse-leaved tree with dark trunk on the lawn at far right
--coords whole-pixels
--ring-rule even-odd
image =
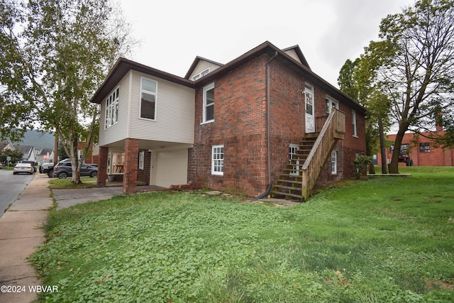
[[[399,126],[394,150],[400,150],[406,131],[432,131],[436,124],[448,132],[433,133],[433,139],[452,145],[454,1],[416,1],[382,20],[380,38],[376,45],[389,52],[382,53],[377,79]],[[398,162],[399,153],[393,153],[389,172],[399,172]]]

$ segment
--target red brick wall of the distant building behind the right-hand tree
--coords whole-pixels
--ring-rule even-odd
[[[426,133],[428,135],[428,133]],[[389,135],[387,140],[393,141],[396,139],[396,135]],[[409,144],[411,146],[409,155],[410,159],[413,160],[414,166],[453,166],[454,165],[454,149],[443,150],[443,148],[433,148],[431,140],[424,136],[419,136],[416,145],[412,143],[414,141],[414,133],[406,133],[402,140],[402,144]],[[421,153],[419,150],[419,143],[429,143],[431,145],[430,153]],[[391,159],[392,154],[389,152],[389,148],[386,149],[386,158]],[[381,154],[377,155],[378,165],[382,165]],[[405,166],[406,163],[399,162],[400,166]]]

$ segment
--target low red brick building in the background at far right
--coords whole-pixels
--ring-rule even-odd
[[[438,126],[437,131],[441,135],[444,131]],[[454,166],[454,149],[435,148],[431,143],[431,139],[427,138],[431,136],[430,132],[421,133],[419,136],[415,136],[415,133],[406,133],[402,139],[401,146],[401,161],[400,166],[405,166],[411,163],[414,166]],[[388,135],[388,141],[394,142],[396,135]],[[391,162],[392,153],[394,151],[394,145],[391,145],[386,149],[387,162]],[[408,157],[408,160],[406,160]],[[377,165],[382,165],[382,156],[379,153],[377,155]]]

